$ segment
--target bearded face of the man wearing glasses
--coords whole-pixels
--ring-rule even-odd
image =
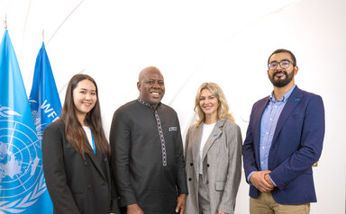
[[[277,53],[273,54],[270,59],[269,63],[271,62],[281,62],[282,60],[289,60],[290,62],[293,61],[289,53]],[[298,67],[296,67],[293,63],[289,64],[289,67],[282,68],[279,65],[275,69],[269,69],[268,70],[268,77],[270,82],[276,86],[276,87],[285,87],[287,85],[294,85],[295,84],[295,76],[298,71]]]

